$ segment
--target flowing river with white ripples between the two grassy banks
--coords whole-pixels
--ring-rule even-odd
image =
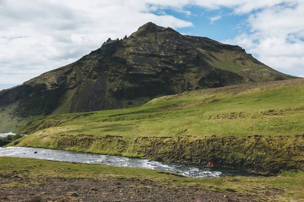
[[[88,164],[105,164],[119,167],[147,168],[175,172],[186,177],[195,178],[224,176],[256,176],[255,174],[235,169],[209,168],[188,164],[163,163],[149,159],[95,155],[90,153],[80,153],[74,151],[54,150],[45,148],[0,147],[0,156],[36,158],[52,161],[77,162]]]

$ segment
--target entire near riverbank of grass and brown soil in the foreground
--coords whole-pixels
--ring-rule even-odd
[[[157,170],[13,157],[0,157],[0,165],[1,201],[26,201],[34,197],[42,201],[89,202],[304,198],[303,173],[285,172],[279,177],[186,178]]]

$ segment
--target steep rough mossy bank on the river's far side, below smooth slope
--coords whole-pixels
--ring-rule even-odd
[[[122,137],[48,135],[43,131],[10,145],[140,157],[158,161],[237,168],[262,174],[304,170],[304,136]]]

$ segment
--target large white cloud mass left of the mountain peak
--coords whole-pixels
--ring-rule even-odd
[[[174,29],[193,26],[165,13],[150,13],[156,10],[137,0],[1,1],[0,83],[23,83],[74,62],[108,37],[130,35],[149,21]]]

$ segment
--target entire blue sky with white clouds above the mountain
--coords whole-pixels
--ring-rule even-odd
[[[0,90],[153,22],[304,77],[304,0],[0,0]]]

